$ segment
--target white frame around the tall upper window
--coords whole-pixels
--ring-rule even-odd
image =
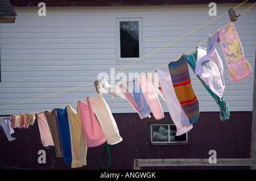
[[[143,18],[123,18],[117,17],[116,19],[116,54],[117,62],[134,62],[141,58],[143,58]],[[131,58],[121,58],[121,46],[120,46],[120,22],[139,22],[139,57],[131,57]],[[144,60],[140,60],[143,62]]]

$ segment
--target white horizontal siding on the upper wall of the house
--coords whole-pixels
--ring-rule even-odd
[[[251,6],[245,3],[237,14]],[[237,4],[217,4],[217,16]],[[99,73],[122,69],[129,62],[116,61],[115,20],[118,17],[143,18],[144,56],[171,43],[217,16],[209,16],[208,5],[126,6],[126,7],[16,7],[14,24],[1,27],[0,107],[93,83]],[[234,23],[254,73],[256,47],[256,6]],[[122,70],[142,73],[154,70],[180,57],[229,22],[226,14],[207,26]],[[206,43],[201,45],[206,46]],[[191,53],[195,51],[192,50]],[[223,53],[220,45],[217,51]],[[222,58],[224,60],[224,58]],[[134,60],[136,61],[136,60]],[[224,61],[223,61],[224,62]],[[162,68],[167,71],[168,66]],[[224,62],[225,92],[230,111],[252,111],[253,74],[238,82],[229,80]],[[200,111],[219,111],[209,93],[190,70]],[[39,112],[63,107],[96,92],[94,85],[0,108],[0,115]],[[95,95],[94,95],[95,96]],[[113,113],[134,112],[122,98],[104,96]],[[159,98],[163,110],[166,103]],[[72,105],[74,108],[76,104]]]

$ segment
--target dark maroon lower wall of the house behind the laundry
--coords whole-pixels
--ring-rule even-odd
[[[137,113],[114,113],[123,141],[110,146],[109,170],[133,169],[135,158],[209,158],[209,150],[217,151],[218,158],[250,158],[252,112],[230,112],[230,119],[221,121],[219,112],[200,112],[199,120],[193,124],[190,145],[151,145],[149,123],[170,122],[169,113],[156,121],[139,119]],[[7,141],[0,130],[0,161],[3,166],[25,169],[71,169],[63,158],[56,158],[53,146],[44,148],[40,140],[37,121],[28,129],[14,129],[15,141]],[[100,155],[103,145],[88,148],[87,165],[79,169],[103,169]],[[46,150],[46,164],[38,163],[38,151]],[[108,165],[106,147],[102,154],[102,165]],[[142,167],[141,169],[216,169],[216,167]],[[249,169],[249,167],[218,167],[217,169]],[[73,169],[71,169],[73,170]]]

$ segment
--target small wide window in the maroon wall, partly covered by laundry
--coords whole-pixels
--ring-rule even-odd
[[[150,124],[151,144],[189,144],[188,133],[176,135],[174,124]]]

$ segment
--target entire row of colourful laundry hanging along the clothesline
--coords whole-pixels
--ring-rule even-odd
[[[225,30],[224,27],[226,27]],[[146,75],[141,75],[138,78],[115,85],[121,90],[121,97],[130,103],[141,119],[150,117],[150,113],[152,113],[156,120],[160,120],[164,117],[162,106],[156,95],[156,90],[160,88],[162,90],[160,96],[166,102],[171,119],[176,126],[176,136],[180,136],[191,130],[193,128],[192,124],[199,117],[199,102],[191,85],[188,71],[189,65],[220,107],[220,119],[222,121],[229,119],[229,108],[224,97],[222,94],[218,95],[213,89],[214,85],[209,85],[207,82],[208,79],[213,80],[213,82],[214,79],[217,79],[217,87],[220,87],[218,83],[220,83],[219,81],[222,77],[223,67],[221,66],[222,61],[215,49],[216,44],[221,44],[226,64],[229,61],[238,67],[238,69],[234,67],[229,68],[228,65],[230,79],[235,77],[232,81],[239,81],[245,78],[251,73],[251,67],[245,60],[245,57],[243,57],[242,44],[238,39],[233,22],[229,22],[224,27],[214,33],[212,39],[210,38],[211,36],[208,36],[207,49],[199,47],[199,45],[207,41],[205,40],[196,46],[195,53],[187,54],[193,48],[187,53],[183,53],[181,57],[166,64],[169,70],[167,73],[158,68],[150,71],[150,73],[146,73]],[[237,41],[237,43],[233,44],[234,41]],[[235,54],[238,52],[237,50],[240,50],[241,53]],[[197,68],[200,68],[200,74]],[[235,70],[230,72],[233,68]],[[153,85],[154,78],[152,78],[155,72],[158,73],[157,76],[159,78],[158,85],[156,86]],[[205,73],[209,76],[204,77]],[[218,76],[216,77],[216,75]],[[105,78],[101,79],[99,85],[103,86],[103,90],[111,87],[106,83]],[[104,87],[105,85],[106,87]],[[132,85],[135,86],[135,89],[139,88],[140,91],[136,92],[131,89]],[[146,85],[150,86],[147,87]],[[86,165],[87,148],[102,144],[115,145],[122,141],[112,112],[102,96],[102,94],[108,93],[115,96],[117,93],[115,91],[102,91],[102,89],[101,91],[97,89],[97,92],[94,94],[97,93],[97,98],[93,98],[90,95],[84,98],[87,99],[86,102],[81,101],[84,99],[75,102],[77,103],[76,110],[70,106],[71,104],[68,104],[65,106],[65,109],[54,108],[51,112],[42,111],[0,117],[0,125],[9,141],[13,141],[15,140],[15,138],[11,137],[11,134],[14,133],[13,128],[28,128],[29,125],[34,124],[37,118],[43,146],[55,146],[56,157],[64,157],[65,164],[71,164],[72,168],[81,167]],[[109,166],[110,160],[105,168]]]

